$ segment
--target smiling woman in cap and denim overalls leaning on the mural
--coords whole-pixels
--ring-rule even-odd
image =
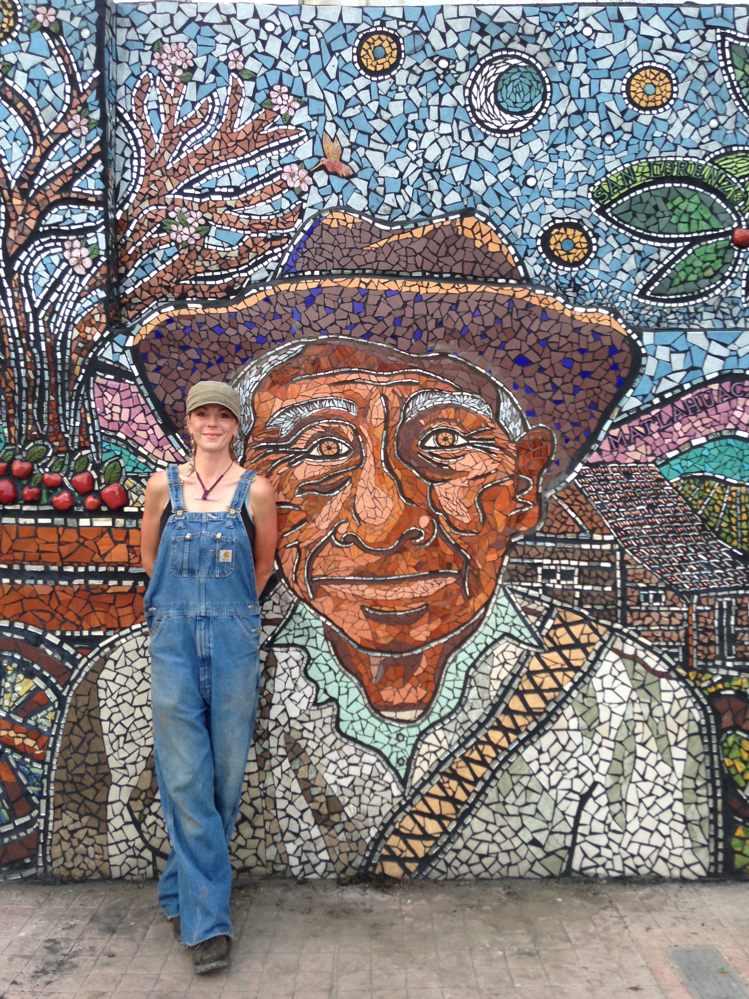
[[[205,972],[227,963],[233,933],[227,844],[258,707],[258,591],[273,567],[276,507],[271,484],[235,461],[239,394],[201,382],[186,409],[192,460],[146,489],[144,606],[156,771],[173,846],[159,903]]]

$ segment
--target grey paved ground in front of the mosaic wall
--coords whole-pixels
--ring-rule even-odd
[[[0,999],[746,999],[748,893],[238,884],[231,968],[198,976],[153,882],[15,881],[0,885]]]

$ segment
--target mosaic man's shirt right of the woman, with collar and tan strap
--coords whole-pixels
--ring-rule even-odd
[[[307,608],[273,652],[275,838],[296,876],[715,869],[704,705],[626,629],[501,589],[407,739]]]

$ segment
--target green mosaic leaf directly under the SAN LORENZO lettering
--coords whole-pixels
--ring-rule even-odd
[[[684,184],[642,188],[612,205],[608,215],[645,243],[725,233],[741,222],[722,198]]]

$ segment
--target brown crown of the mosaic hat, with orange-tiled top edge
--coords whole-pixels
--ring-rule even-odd
[[[497,232],[467,212],[403,228],[376,225],[346,212],[316,219],[298,238],[279,277],[314,272],[456,275],[491,281],[526,280]]]

